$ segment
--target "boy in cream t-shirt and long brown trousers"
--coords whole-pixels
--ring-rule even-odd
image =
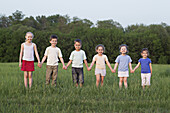
[[[51,46],[47,47],[45,50],[44,57],[41,61],[41,66],[47,58],[46,66],[46,84],[50,84],[50,78],[52,76],[52,85],[56,86],[56,80],[58,75],[58,57],[63,64],[63,69],[65,69],[64,60],[62,58],[62,53],[60,48],[56,47],[58,37],[56,35],[50,36]]]

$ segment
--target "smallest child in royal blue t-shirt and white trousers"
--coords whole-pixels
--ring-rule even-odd
[[[143,48],[141,51],[141,56],[143,58],[140,58],[138,60],[137,66],[134,68],[133,72],[141,65],[141,79],[142,79],[142,87],[143,90],[145,86],[150,86],[150,78],[152,76],[152,65],[151,60],[147,58],[149,56],[149,51],[147,48]]]

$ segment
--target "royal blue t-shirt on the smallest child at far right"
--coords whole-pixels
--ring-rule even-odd
[[[146,59],[140,58],[138,62],[140,62],[141,64],[141,73],[151,73],[151,70],[149,67],[151,60],[149,58],[146,58]]]

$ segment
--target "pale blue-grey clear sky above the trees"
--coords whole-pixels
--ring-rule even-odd
[[[170,0],[0,0],[0,14],[12,15],[16,10],[25,17],[68,15],[70,18],[113,19],[124,28],[132,24],[170,25]]]

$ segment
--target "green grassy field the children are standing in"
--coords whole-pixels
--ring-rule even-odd
[[[94,68],[90,72],[84,68],[85,84],[75,88],[71,67],[66,71],[61,66],[57,87],[45,85],[44,64],[41,69],[36,67],[32,88],[25,89],[18,63],[0,63],[0,112],[170,112],[170,65],[153,65],[151,87],[145,91],[140,69],[130,74],[128,90],[119,90],[117,74],[108,67],[103,87],[95,86]]]

